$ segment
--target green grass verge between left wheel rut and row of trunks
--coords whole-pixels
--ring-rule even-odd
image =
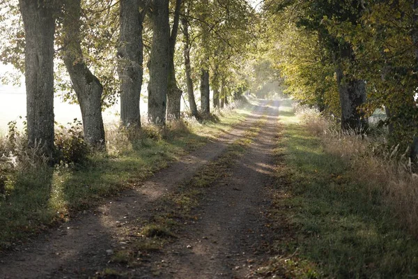
[[[120,152],[95,153],[84,167],[37,167],[9,174],[6,194],[0,194],[0,250],[13,248],[68,220],[73,212],[137,186],[157,170],[233,128],[251,108],[247,105],[222,112],[220,121],[192,123],[187,131],[166,131],[162,138],[143,138],[129,148],[116,146],[123,149]]]

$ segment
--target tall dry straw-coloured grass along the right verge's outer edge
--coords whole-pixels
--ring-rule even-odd
[[[385,148],[383,136],[341,132],[335,121],[309,107],[295,107],[295,112],[307,130],[320,137],[326,152],[346,160],[350,178],[368,187],[371,195],[377,191],[396,218],[418,235],[418,175],[412,172],[408,150]]]

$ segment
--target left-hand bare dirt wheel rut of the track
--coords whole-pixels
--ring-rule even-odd
[[[158,172],[141,186],[123,191],[95,210],[87,211],[58,229],[41,234],[31,244],[0,256],[0,278],[88,278],[107,267],[112,250],[131,222],[148,218],[153,204],[191,179],[197,169],[214,160],[263,115],[265,101],[233,130]],[[132,228],[131,228],[132,229]]]

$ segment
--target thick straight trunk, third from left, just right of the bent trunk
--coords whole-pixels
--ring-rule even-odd
[[[142,79],[144,68],[144,43],[142,41],[142,21],[139,0],[121,0],[119,21],[121,33],[118,46],[118,75],[121,79],[121,123],[125,127],[141,127]],[[142,13],[146,13],[146,9]]]

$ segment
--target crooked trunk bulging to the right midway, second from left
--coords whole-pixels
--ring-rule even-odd
[[[81,0],[65,1],[63,61],[82,110],[84,138],[92,146],[104,149],[103,86],[84,61],[80,36],[81,12]]]

